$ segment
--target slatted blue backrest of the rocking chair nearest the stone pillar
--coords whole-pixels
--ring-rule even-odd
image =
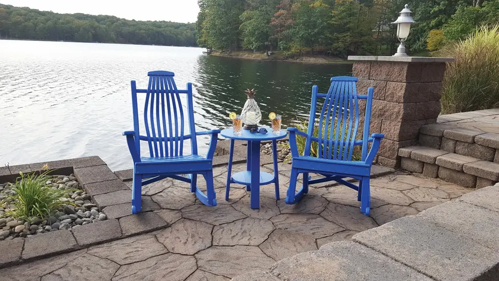
[[[373,99],[373,88],[367,95],[358,95],[357,78],[339,76],[331,78],[327,94],[318,93],[316,85],[312,88],[312,104],[308,135],[313,136],[314,125],[318,125],[317,157],[340,161],[352,161],[355,145],[362,145],[362,161],[367,156],[367,141]],[[318,98],[323,98],[318,101]],[[364,132],[361,141],[356,141],[359,128],[359,100],[365,99]],[[320,109],[318,123],[317,110]],[[305,155],[310,156],[312,138],[307,139]]]

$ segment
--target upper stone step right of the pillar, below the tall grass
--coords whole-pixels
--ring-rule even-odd
[[[491,114],[495,111],[497,109],[483,112]],[[499,120],[495,120],[496,118],[492,118],[493,116],[479,116],[478,114],[481,112],[439,117],[438,122],[440,123],[421,127],[418,144],[499,163]],[[458,117],[468,119],[459,119]]]

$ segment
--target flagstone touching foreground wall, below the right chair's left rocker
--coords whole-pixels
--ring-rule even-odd
[[[280,261],[295,254],[317,250],[317,245],[310,235],[276,229],[259,248],[274,260]]]

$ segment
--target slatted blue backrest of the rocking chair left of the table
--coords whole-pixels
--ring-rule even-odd
[[[173,80],[175,76],[173,72],[151,71],[147,75],[149,76],[147,89],[137,89],[135,81],[131,82],[137,150],[140,152],[140,140],[142,140],[148,143],[150,157],[182,156],[184,140],[191,139],[192,154],[198,154],[192,106],[192,84],[187,83],[187,90],[178,90]],[[139,133],[137,93],[146,94],[145,136]],[[188,116],[184,114],[180,94],[187,94]],[[185,134],[184,118],[188,118],[190,134]]]

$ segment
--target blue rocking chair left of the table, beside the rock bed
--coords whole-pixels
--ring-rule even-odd
[[[178,90],[173,81],[175,74],[172,72],[151,71],[147,75],[147,90],[137,89],[135,81],[131,82],[134,131],[123,133],[134,160],[132,213],[138,213],[142,209],[142,186],[165,178],[190,183],[190,191],[194,192],[203,204],[215,206],[212,159],[220,130],[196,133],[191,83],[187,83],[187,90]],[[145,94],[145,136],[139,134],[137,93]],[[180,94],[187,96],[188,116],[184,116]],[[188,118],[189,134],[184,132],[185,117]],[[206,157],[198,155],[196,136],[200,135],[211,135]],[[188,139],[191,142],[191,155],[183,155],[183,144]],[[150,157],[140,156],[140,141],[147,142]],[[186,174],[188,177],[180,176]],[[206,180],[206,194],[197,187],[198,174],[203,175]]]

